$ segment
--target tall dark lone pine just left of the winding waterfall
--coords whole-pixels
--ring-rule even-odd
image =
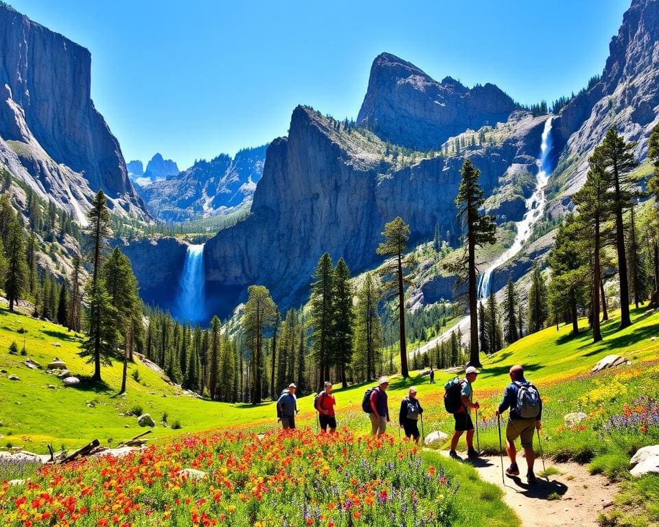
[[[490,215],[481,214],[483,206],[483,189],[478,184],[481,171],[472,165],[470,159],[465,160],[461,169],[462,180],[458,189],[455,204],[458,207],[458,220],[462,222],[466,233],[465,253],[459,262],[459,285],[467,284],[468,305],[470,313],[470,359],[472,366],[481,366],[478,354],[478,291],[476,281],[476,247],[483,244],[494,244],[496,239],[496,224]]]

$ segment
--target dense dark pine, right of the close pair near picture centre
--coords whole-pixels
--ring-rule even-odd
[[[348,387],[345,369],[352,358],[352,332],[354,307],[352,287],[349,282],[350,270],[343,258],[339,259],[332,277],[332,344],[334,364],[341,374],[343,388]]]

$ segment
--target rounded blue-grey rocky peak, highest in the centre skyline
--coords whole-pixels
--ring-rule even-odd
[[[380,54],[357,121],[381,139],[425,151],[467,128],[505,122],[517,109],[493,84],[467,89],[451,77],[437,82],[410,62]]]

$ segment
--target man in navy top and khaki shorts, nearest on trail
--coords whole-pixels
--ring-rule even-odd
[[[519,437],[524,449],[524,456],[527,458],[527,481],[529,484],[536,482],[533,473],[533,462],[535,461],[535,452],[533,452],[533,432],[535,429],[540,430],[542,423],[542,399],[537,393],[537,388],[527,379],[524,379],[524,368],[520,364],[511,366],[510,384],[506,386],[503,393],[503,401],[496,410],[497,417],[510,408],[510,416],[506,425],[506,452],[510,458],[510,467],[506,470],[508,476],[519,476],[520,469],[517,466],[517,450],[515,440]],[[526,392],[529,397],[520,395],[520,388]],[[529,389],[530,388],[530,389]],[[535,401],[535,403],[533,402]],[[524,417],[523,414],[527,414]],[[529,417],[533,416],[533,417]]]

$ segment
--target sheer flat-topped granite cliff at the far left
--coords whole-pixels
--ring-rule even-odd
[[[79,218],[98,189],[149,218],[91,100],[89,51],[1,3],[0,64],[0,163]]]

